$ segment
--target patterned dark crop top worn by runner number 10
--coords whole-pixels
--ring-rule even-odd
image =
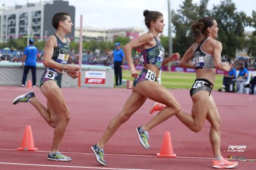
[[[140,52],[140,61],[142,62],[142,65],[145,65],[146,63],[156,65],[160,70],[164,59],[164,47],[161,42],[155,38],[155,36],[154,39],[156,41],[156,45],[150,49],[143,49]]]

